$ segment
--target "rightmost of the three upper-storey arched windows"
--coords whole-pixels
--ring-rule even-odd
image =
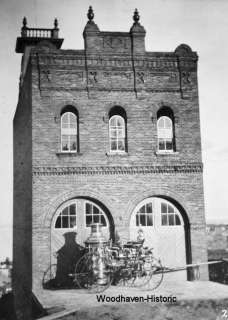
[[[173,123],[167,116],[158,119],[158,150],[173,151]]]

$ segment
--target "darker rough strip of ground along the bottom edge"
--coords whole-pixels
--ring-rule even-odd
[[[227,313],[227,314],[226,314]],[[59,318],[61,319],[61,318]],[[64,319],[64,318],[62,318]],[[80,310],[77,320],[220,320],[228,319],[226,301],[182,301],[175,305],[130,304]]]

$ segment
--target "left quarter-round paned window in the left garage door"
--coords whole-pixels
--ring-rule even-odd
[[[72,229],[76,227],[76,204],[64,208],[55,222],[56,229]]]

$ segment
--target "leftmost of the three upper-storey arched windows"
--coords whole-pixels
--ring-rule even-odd
[[[61,115],[61,152],[78,151],[78,119],[76,113],[66,111]]]

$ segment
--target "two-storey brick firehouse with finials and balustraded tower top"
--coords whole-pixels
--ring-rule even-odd
[[[137,11],[133,20],[129,32],[102,32],[90,8],[83,50],[61,49],[57,21],[23,21],[13,277],[22,318],[64,234],[76,231],[83,245],[91,222],[113,240],[142,228],[166,266],[207,261],[198,56],[184,44],[145,51]]]

